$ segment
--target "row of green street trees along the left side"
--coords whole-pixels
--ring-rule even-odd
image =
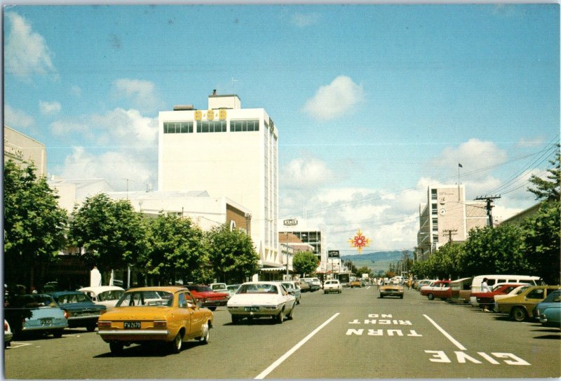
[[[67,215],[57,199],[32,163],[5,164],[5,283],[41,286],[40,269],[68,248],[83,248],[83,258],[102,272],[132,267],[144,283],[241,282],[257,272],[252,239],[227,225],[203,232],[189,218],[144,217],[129,201],[107,194],[86,199]]]

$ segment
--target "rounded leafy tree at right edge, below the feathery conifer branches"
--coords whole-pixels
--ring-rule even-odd
[[[560,201],[546,201],[539,212],[523,224],[525,260],[548,284],[560,283],[560,215]]]

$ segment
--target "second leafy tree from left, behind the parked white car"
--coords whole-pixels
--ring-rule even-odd
[[[146,248],[142,218],[127,200],[113,201],[107,194],[89,197],[74,208],[69,239],[86,249],[86,258],[100,271],[135,265]]]

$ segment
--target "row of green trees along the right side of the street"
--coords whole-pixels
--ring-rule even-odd
[[[517,224],[472,229],[464,243],[447,243],[412,272],[430,279],[458,279],[481,274],[541,276],[560,284],[560,154],[550,161],[546,178],[532,176],[529,192],[540,200],[537,213]]]

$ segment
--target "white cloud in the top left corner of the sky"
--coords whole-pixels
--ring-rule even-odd
[[[51,53],[41,34],[32,31],[31,25],[14,12],[7,13],[10,29],[4,47],[6,71],[24,81],[33,74],[55,73]]]

